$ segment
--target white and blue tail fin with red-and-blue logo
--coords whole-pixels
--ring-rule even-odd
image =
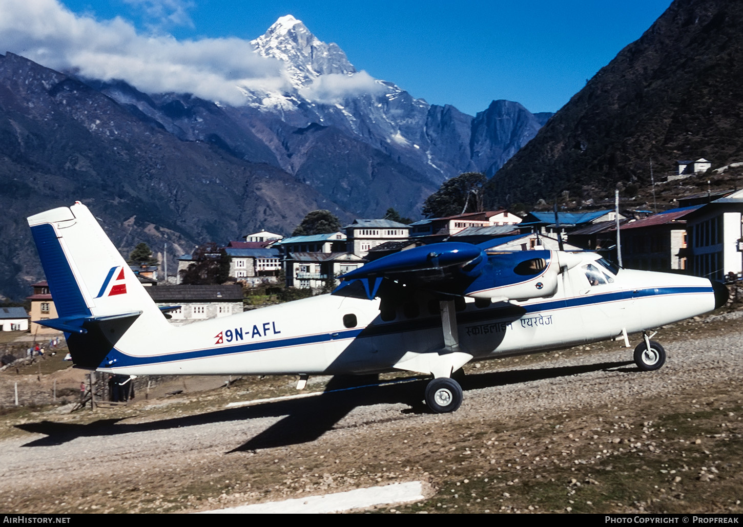
[[[169,326],[85,205],[41,212],[28,224],[59,314],[38,322],[68,334],[75,364],[99,366],[134,325],[142,332]]]

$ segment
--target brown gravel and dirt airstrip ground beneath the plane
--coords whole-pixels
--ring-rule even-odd
[[[656,372],[616,342],[470,364],[462,407],[444,415],[405,375],[357,390],[311,378],[319,395],[232,406],[296,394],[296,378],[172,379],[94,412],[3,399],[0,510],[205,511],[424,481],[425,500],[374,511],[739,514],[742,321],[663,328]],[[79,374],[5,370],[0,390]]]

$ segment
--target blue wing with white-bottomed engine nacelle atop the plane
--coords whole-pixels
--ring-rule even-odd
[[[342,275],[343,283],[333,294],[383,298],[388,290],[403,287],[424,290],[442,300],[457,296],[539,298],[557,291],[560,267],[557,252],[488,254],[471,243],[432,243],[379,258]]]

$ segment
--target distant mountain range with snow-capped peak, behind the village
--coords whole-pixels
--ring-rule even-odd
[[[82,200],[122,252],[167,240],[171,258],[253,229],[291,232],[311,209],[415,217],[442,181],[493,174],[549,117],[508,101],[476,117],[429,105],[292,16],[252,44],[288,83],[241,88],[237,106],[0,56],[1,295],[42,278],[25,217],[52,206]]]

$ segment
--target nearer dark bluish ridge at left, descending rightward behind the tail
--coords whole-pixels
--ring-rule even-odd
[[[311,209],[350,217],[280,168],[181,141],[11,53],[0,58],[0,181],[0,291],[11,298],[43,278],[25,218],[74,200],[103,220],[125,254],[141,240],[155,249],[167,241],[171,257],[205,240],[285,229]]]

